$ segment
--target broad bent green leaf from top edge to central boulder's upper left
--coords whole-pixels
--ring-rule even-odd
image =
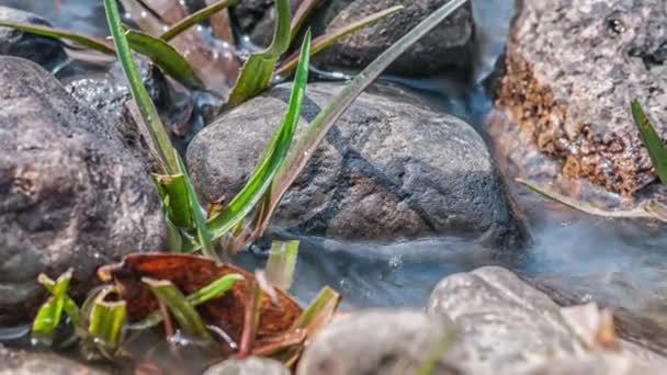
[[[228,106],[237,106],[268,88],[278,59],[290,48],[290,0],[275,0],[275,10],[273,41],[267,49],[251,54],[244,64],[229,94]]]

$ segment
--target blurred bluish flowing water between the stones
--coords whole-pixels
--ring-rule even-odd
[[[105,35],[99,1],[0,0],[31,10],[55,25]],[[443,77],[428,80],[392,78],[437,102],[443,111],[466,118],[483,132],[491,107],[482,80],[502,53],[513,0],[473,0],[478,48],[475,79],[461,83]],[[587,298],[606,300],[642,315],[667,317],[667,232],[646,223],[585,216],[546,203],[512,182],[525,212],[533,245],[520,264],[509,264],[525,276],[549,279]],[[302,238],[293,292],[302,300],[324,285],[342,292],[346,307],[425,306],[436,283],[454,272],[494,264],[494,249],[461,238],[432,238],[392,245],[342,243]],[[241,264],[255,266],[261,255],[247,253]]]

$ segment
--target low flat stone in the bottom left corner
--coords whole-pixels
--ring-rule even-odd
[[[105,375],[111,373],[52,353],[26,352],[0,344],[0,375],[33,374]]]

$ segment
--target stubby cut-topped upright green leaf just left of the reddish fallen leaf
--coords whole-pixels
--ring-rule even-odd
[[[105,302],[108,293],[101,293],[90,310],[89,339],[105,356],[113,356],[118,349],[121,333],[125,325],[126,303]]]

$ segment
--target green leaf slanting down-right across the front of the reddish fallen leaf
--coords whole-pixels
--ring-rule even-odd
[[[171,282],[148,277],[143,277],[142,281],[148,285],[156,298],[169,308],[189,339],[195,340],[204,346],[215,344],[200,314]]]

